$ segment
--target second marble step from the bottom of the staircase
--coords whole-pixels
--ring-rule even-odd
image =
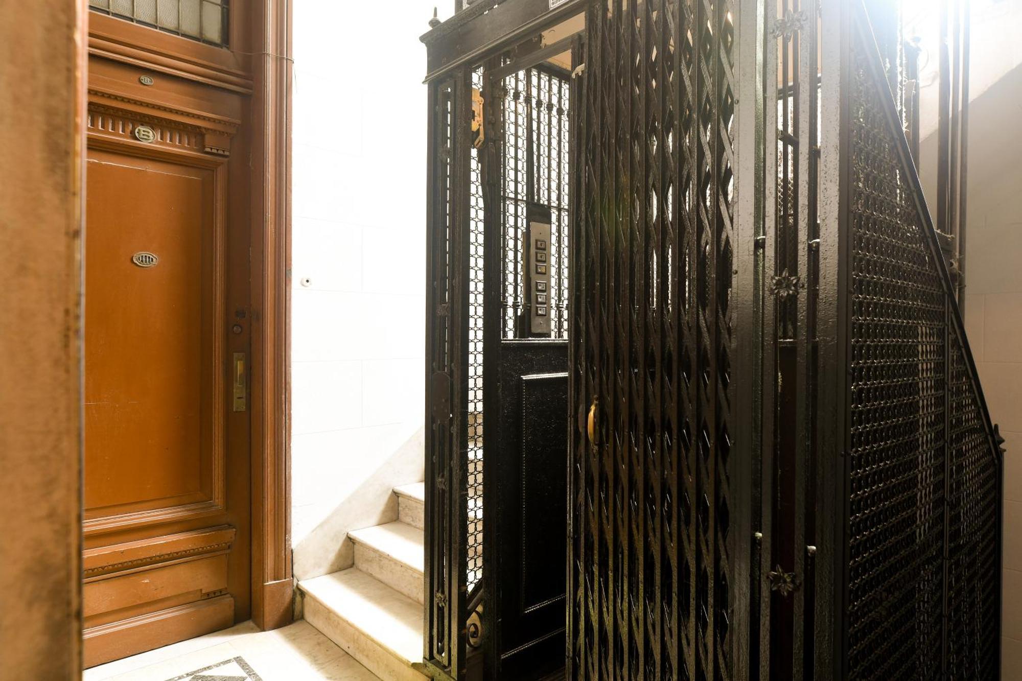
[[[401,520],[353,530],[355,566],[412,600],[422,602],[425,561],[422,530]]]

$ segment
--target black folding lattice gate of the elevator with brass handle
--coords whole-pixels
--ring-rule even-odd
[[[587,14],[571,281],[575,679],[735,671],[735,12],[612,0]]]

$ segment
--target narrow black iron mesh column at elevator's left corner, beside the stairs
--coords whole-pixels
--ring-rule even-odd
[[[464,678],[468,621],[471,77],[429,86],[424,659]]]

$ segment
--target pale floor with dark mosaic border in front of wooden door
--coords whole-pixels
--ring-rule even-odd
[[[250,622],[86,670],[83,681],[379,681],[305,621]]]

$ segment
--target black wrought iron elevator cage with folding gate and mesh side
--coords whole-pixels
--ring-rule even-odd
[[[424,37],[434,675],[465,678],[485,622],[478,324],[521,330],[517,265],[493,322],[476,298],[486,230],[518,232],[479,215],[473,90],[584,10],[567,677],[998,678],[1002,441],[905,134],[913,65],[874,5],[486,0]]]

